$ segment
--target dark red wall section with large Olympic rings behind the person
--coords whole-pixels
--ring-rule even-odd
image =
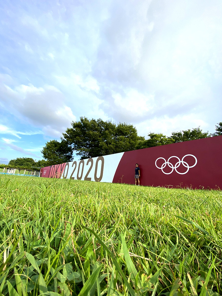
[[[134,168],[138,163],[144,186],[222,189],[221,154],[222,136],[125,152],[113,182],[135,183]]]

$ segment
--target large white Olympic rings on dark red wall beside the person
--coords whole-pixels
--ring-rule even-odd
[[[189,164],[188,164],[186,161],[184,161],[184,158],[185,158],[186,156],[192,156],[192,157],[194,157],[194,160],[195,160],[194,165],[189,166]],[[173,164],[170,163],[170,161],[169,161],[169,160],[170,160],[171,158],[173,158],[173,157],[175,157],[175,158],[178,159],[178,162],[177,162],[174,166],[173,166]],[[163,159],[163,160],[164,160],[164,163],[161,165],[161,167],[158,167],[158,166],[157,166],[157,160],[158,160],[158,159]],[[189,171],[190,168],[193,168],[193,167],[197,164],[197,157],[195,157],[195,156],[192,155],[192,154],[186,154],[186,155],[184,155],[184,157],[182,158],[182,160],[180,160],[179,157],[177,157],[177,156],[170,156],[170,157],[168,158],[167,161],[166,161],[165,158],[163,158],[163,157],[159,157],[159,158],[157,158],[157,160],[155,161],[155,166],[156,166],[157,168],[159,168],[160,170],[162,170],[162,172],[163,172],[165,175],[170,175],[171,173],[173,173],[173,170],[175,170],[175,171],[176,171],[178,174],[180,174],[180,175],[184,175],[184,174],[188,173],[188,171]],[[178,172],[178,170],[177,170],[177,168],[181,165],[181,163],[182,163],[182,165],[186,168],[186,172],[184,172],[184,173],[180,173],[180,172]],[[166,165],[168,165],[168,167],[170,167],[170,168],[172,169],[170,173],[165,173],[165,172],[164,172],[163,169],[166,167]]]

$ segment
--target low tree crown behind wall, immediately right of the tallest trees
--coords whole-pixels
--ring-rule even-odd
[[[141,140],[138,142],[138,144],[136,145],[136,149],[156,147],[174,143],[174,139],[166,137],[162,133],[149,133],[148,136],[148,140]]]

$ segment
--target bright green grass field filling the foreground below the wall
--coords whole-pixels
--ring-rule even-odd
[[[0,296],[222,295],[222,192],[1,176]]]

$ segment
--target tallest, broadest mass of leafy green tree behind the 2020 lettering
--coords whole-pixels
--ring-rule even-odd
[[[62,135],[81,159],[134,150],[140,139],[131,124],[80,117]]]

